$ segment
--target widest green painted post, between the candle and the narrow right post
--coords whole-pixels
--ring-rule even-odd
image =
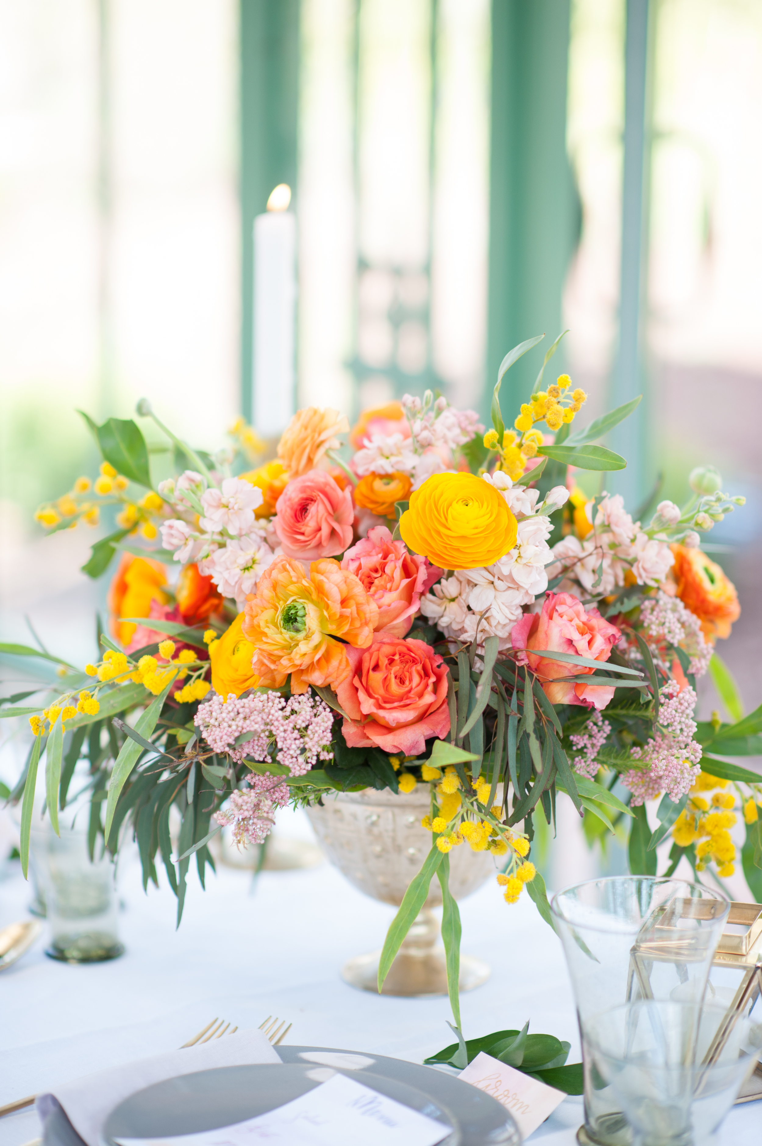
[[[566,155],[569,0],[493,0],[489,303],[485,414],[512,346],[545,333],[501,391],[505,423],[526,401],[541,352],[561,330],[580,209]],[[563,344],[553,370],[564,363]]]

